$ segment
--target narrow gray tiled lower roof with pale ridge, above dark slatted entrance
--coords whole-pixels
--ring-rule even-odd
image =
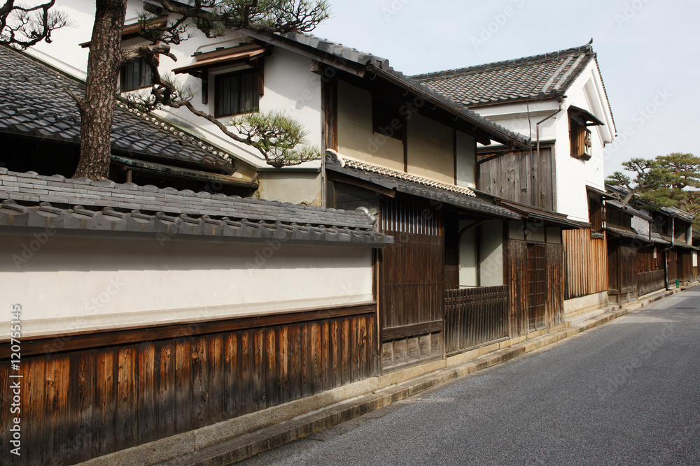
[[[454,205],[465,210],[482,212],[505,219],[521,219],[518,214],[510,210],[475,197],[476,194],[471,189],[407,175],[349,157],[326,155],[326,169],[376,184],[379,187]]]

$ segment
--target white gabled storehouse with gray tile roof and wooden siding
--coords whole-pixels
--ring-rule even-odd
[[[479,147],[477,187],[579,222],[563,231],[563,306],[573,314],[606,305],[603,147],[615,122],[591,43],[414,79],[532,138],[532,150]]]

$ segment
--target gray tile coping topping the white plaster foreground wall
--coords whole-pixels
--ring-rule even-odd
[[[362,212],[0,168],[0,227],[381,245]]]

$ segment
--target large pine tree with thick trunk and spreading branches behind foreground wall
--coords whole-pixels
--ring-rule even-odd
[[[50,40],[51,31],[65,24],[65,18],[50,12],[54,1],[48,1],[39,10],[36,10],[38,7],[30,9],[14,6],[13,0],[8,1],[3,10],[0,10],[0,24],[10,24],[13,15],[19,15],[20,25],[9,29],[8,26],[3,26],[1,37],[5,43],[26,48],[42,38]],[[121,47],[121,31],[127,0],[95,2],[85,95],[80,97],[69,92],[78,105],[81,117],[80,160],[73,177],[102,180],[109,175],[111,126],[119,72],[123,65],[137,59],[144,59],[151,68],[153,88],[150,96],[143,101],[132,99],[132,104],[138,104],[146,110],[161,106],[188,108],[195,115],[216,124],[233,140],[255,147],[267,163],[278,168],[296,165],[318,156],[315,150],[304,146],[306,133],[300,124],[290,118],[281,118],[277,113],[260,113],[255,118],[246,115],[234,119],[228,126],[233,126],[242,133],[230,131],[218,119],[195,109],[191,103],[193,93],[162,77],[158,72],[158,64],[162,55],[176,60],[171,45],[190,38],[189,31],[193,28],[210,38],[226,34],[231,29],[281,33],[309,31],[328,17],[329,6],[325,0],[192,0],[190,4],[170,0],[155,1],[158,6],[149,4],[151,12],[144,12],[140,20],[140,34],[149,43],[124,49]],[[175,19],[160,26],[153,20],[161,13],[174,13]],[[26,15],[35,19],[30,20]],[[41,28],[34,31],[29,27],[32,22],[41,24]]]

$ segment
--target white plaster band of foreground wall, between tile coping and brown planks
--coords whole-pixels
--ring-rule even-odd
[[[370,248],[50,237],[15,266],[34,239],[0,243],[0,307],[22,306],[23,337],[372,300]]]

